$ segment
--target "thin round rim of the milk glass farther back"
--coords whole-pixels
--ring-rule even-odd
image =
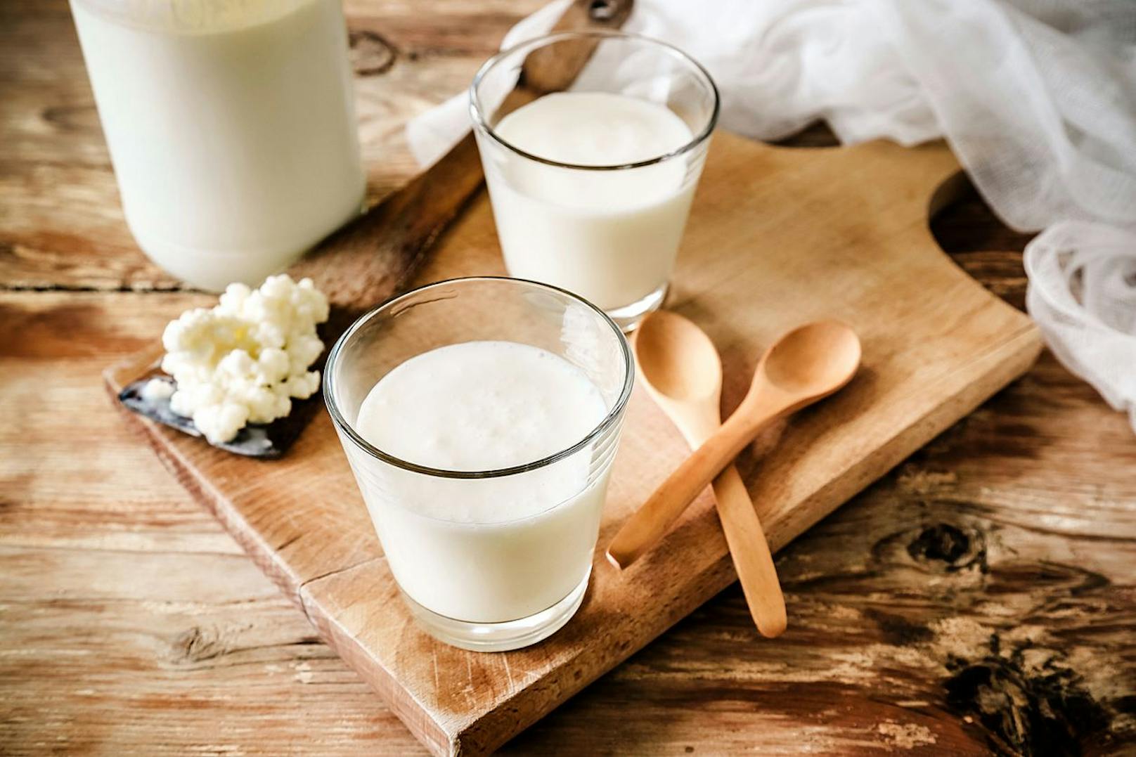
[[[502,63],[506,58],[508,58],[511,55],[515,55],[517,51],[526,47],[531,45],[535,49],[540,47],[546,47],[549,44],[562,40],[577,39],[582,36],[595,36],[595,38],[644,42],[648,45],[654,45],[661,49],[663,52],[670,55],[674,58],[678,58],[679,60],[693,67],[694,70],[698,72],[698,74],[705,81],[707,85],[710,89],[710,94],[713,97],[713,108],[710,113],[710,117],[707,119],[705,126],[703,126],[698,134],[692,136],[688,142],[684,143],[682,147],[671,150],[670,152],[665,152],[660,156],[648,158],[646,160],[637,160],[635,163],[623,163],[623,164],[601,165],[601,166],[580,165],[576,163],[563,163],[561,160],[552,160],[551,158],[542,158],[538,155],[534,155],[532,152],[528,152],[527,150],[520,149],[516,144],[512,144],[503,136],[498,134],[496,130],[490,126],[488,120],[485,118],[485,114],[482,111],[479,98],[477,97],[477,88],[481,85],[482,80],[485,78],[485,75],[488,74],[490,70],[492,70],[498,64]],[[511,48],[498,52],[492,58],[483,63],[481,68],[478,68],[477,73],[474,75],[474,81],[469,84],[469,116],[473,119],[474,127],[476,130],[481,131],[484,134],[487,134],[491,139],[493,139],[494,142],[496,142],[501,147],[512,152],[516,152],[517,155],[524,158],[527,158],[529,160],[535,160],[536,163],[543,163],[546,166],[554,166],[557,168],[571,168],[574,170],[626,170],[628,168],[643,168],[645,166],[653,166],[670,160],[673,158],[677,158],[680,155],[690,152],[691,150],[695,149],[696,147],[705,142],[708,139],[710,139],[710,135],[713,133],[715,127],[718,125],[718,114],[720,110],[721,110],[721,95],[718,92],[718,85],[715,84],[713,77],[710,76],[710,72],[708,72],[705,67],[698,60],[692,58],[690,55],[687,55],[679,48],[676,48],[674,44],[670,44],[669,42],[663,42],[662,40],[657,40],[652,36],[646,36],[645,34],[632,34],[628,32],[617,32],[610,30],[578,30],[570,32],[553,32],[551,34],[544,34],[542,36],[526,40],[524,42],[518,42]]]

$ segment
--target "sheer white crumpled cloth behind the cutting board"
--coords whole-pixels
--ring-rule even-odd
[[[546,33],[568,1],[503,47]],[[845,143],[945,136],[1006,224],[1064,222],[1027,249],[1030,315],[1070,369],[1131,411],[1136,0],[637,0],[624,28],[701,61],[725,128],[778,139],[824,118]],[[416,158],[433,163],[468,124],[465,92],[416,118]]]

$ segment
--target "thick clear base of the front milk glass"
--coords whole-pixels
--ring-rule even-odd
[[[438,615],[426,609],[406,592],[402,599],[410,608],[418,624],[438,641],[470,651],[509,651],[535,644],[548,639],[563,627],[565,623],[579,609],[587,593],[587,580],[592,575],[588,566],[584,580],[559,602],[528,617],[502,623],[469,623]]]

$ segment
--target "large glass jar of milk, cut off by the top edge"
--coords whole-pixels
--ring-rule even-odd
[[[134,239],[187,283],[259,284],[357,215],[340,0],[70,0]]]

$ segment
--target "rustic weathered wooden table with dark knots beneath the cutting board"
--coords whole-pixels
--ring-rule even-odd
[[[371,197],[538,5],[348,1]],[[1021,306],[1027,236],[972,192],[933,226]],[[210,298],[126,231],[62,0],[0,5],[0,752],[420,752],[102,390]],[[778,556],[785,637],[730,589],[506,751],[1136,750],[1134,466],[1043,356]]]

